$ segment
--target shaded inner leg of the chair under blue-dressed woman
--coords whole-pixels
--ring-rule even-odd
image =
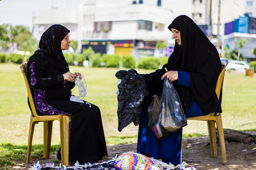
[[[215,121],[207,121],[212,157],[217,157]]]

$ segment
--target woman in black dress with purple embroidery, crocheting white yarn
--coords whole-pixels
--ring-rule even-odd
[[[72,82],[80,73],[69,72],[62,50],[69,48],[69,30],[52,25],[27,63],[27,77],[38,115],[69,115],[69,162],[101,160],[108,156],[99,107],[70,101]],[[29,104],[29,103],[28,103]],[[61,160],[61,150],[57,159]]]

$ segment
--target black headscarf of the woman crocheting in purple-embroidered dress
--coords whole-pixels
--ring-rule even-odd
[[[69,71],[68,63],[61,50],[61,41],[70,31],[62,25],[50,26],[41,36],[39,48],[33,55],[40,55],[62,73]],[[32,56],[33,56],[32,55]]]

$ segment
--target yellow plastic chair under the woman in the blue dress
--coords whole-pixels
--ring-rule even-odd
[[[215,92],[218,96],[218,99],[220,97],[220,90],[223,87],[224,75],[225,75],[225,71],[226,71],[225,68],[228,65],[228,60],[221,59],[221,65],[222,65],[222,70],[220,72],[220,75],[219,75],[219,78],[217,81],[217,85],[216,85],[216,90],[215,90]],[[210,138],[210,146],[211,146],[211,152],[212,152],[213,158],[217,157],[217,143],[216,143],[216,130],[215,130],[215,123],[216,123],[217,131],[218,131],[218,135],[219,135],[223,164],[227,163],[221,113],[219,113],[219,115],[216,115],[216,116],[214,116],[214,113],[210,113],[209,115],[189,117],[187,119],[188,120],[207,121],[209,138]]]

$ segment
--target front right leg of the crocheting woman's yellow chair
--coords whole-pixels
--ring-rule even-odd
[[[62,116],[60,120],[61,163],[65,166],[68,166],[69,120],[69,116]]]

